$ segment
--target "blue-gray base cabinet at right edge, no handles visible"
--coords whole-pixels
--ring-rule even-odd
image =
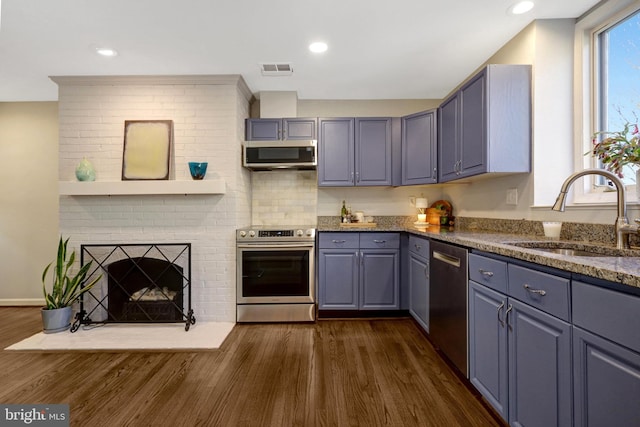
[[[640,296],[572,282],[576,426],[640,422]]]

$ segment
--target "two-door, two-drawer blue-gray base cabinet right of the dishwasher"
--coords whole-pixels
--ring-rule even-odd
[[[469,255],[469,379],[510,425],[573,423],[571,325],[558,317],[570,280],[557,273]]]

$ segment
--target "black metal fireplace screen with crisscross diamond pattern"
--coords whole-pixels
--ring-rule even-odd
[[[191,308],[191,244],[81,245],[82,265],[102,279],[80,300],[80,324],[195,323]]]

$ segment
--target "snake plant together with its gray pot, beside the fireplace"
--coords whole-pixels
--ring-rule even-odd
[[[69,238],[62,240],[62,236],[60,236],[60,241],[58,242],[58,257],[55,261],[47,265],[42,272],[42,291],[46,303],[46,307],[42,308],[44,333],[61,332],[69,329],[73,303],[77,301],[82,294],[90,290],[102,277],[102,275],[99,275],[90,282],[86,282],[85,278],[91,268],[92,262],[80,267],[80,270],[78,270],[76,274],[71,272],[76,259],[76,251],[72,251],[71,254],[67,256],[68,242]],[[49,292],[45,282],[47,273],[54,263],[55,266],[52,270],[52,287]]]

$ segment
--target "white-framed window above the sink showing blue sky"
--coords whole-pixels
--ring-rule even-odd
[[[608,0],[579,18],[575,38],[575,170],[603,168],[584,155],[593,148],[596,132],[616,132],[640,118],[640,2]],[[581,72],[580,72],[581,71]],[[574,203],[614,203],[615,192],[606,179],[590,175],[574,186]],[[635,195],[633,167],[623,170],[627,200]]]

